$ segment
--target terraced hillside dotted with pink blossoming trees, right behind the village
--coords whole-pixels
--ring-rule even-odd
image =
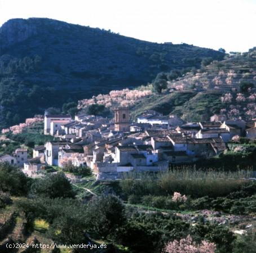
[[[228,118],[256,116],[256,48],[243,55],[213,61],[175,80],[168,80],[161,94],[152,93],[132,107],[133,115],[144,110],[173,113],[184,120],[209,120],[213,114]]]

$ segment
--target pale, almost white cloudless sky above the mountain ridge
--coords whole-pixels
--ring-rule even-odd
[[[0,25],[15,17],[49,17],[227,52],[256,46],[256,0],[0,0]]]

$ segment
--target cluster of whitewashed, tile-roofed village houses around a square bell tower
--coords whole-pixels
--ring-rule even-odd
[[[2,162],[17,165],[36,176],[46,166],[89,167],[98,180],[121,179],[123,172],[167,171],[170,165],[189,164],[219,155],[227,143],[240,137],[256,138],[256,119],[229,120],[213,115],[210,121],[186,122],[176,115],[144,111],[131,121],[128,107],[116,107],[114,119],[78,114],[46,115],[45,135],[54,140],[13,155]]]

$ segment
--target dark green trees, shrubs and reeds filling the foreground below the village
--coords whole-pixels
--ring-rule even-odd
[[[191,236],[198,245],[202,241],[212,242],[217,247],[215,252],[254,252],[255,242],[249,243],[251,236],[255,236],[253,230],[248,236],[235,236],[231,231],[237,225],[242,228],[239,221],[218,224],[210,222],[207,215],[197,215],[192,222],[180,216],[182,212],[201,209],[218,210],[218,215],[213,216],[217,220],[223,213],[255,214],[256,184],[239,180],[241,175],[176,170],[160,175],[157,181],[152,175],[144,175],[142,180],[132,180],[133,175],[129,175],[122,182],[109,184],[122,198],[128,199],[130,204],[125,204],[112,194],[81,201],[77,196],[82,188],[74,189],[62,173],[29,179],[17,168],[1,164],[0,236],[3,239],[8,234],[8,240],[3,240],[0,248],[4,249],[10,240],[14,243],[90,242],[105,245],[101,251],[91,252],[156,253],[162,252],[167,242]],[[17,180],[10,182],[13,177]],[[200,177],[204,178],[200,180]],[[182,179],[179,183],[178,178]],[[221,178],[220,182],[214,178]],[[98,186],[101,184],[105,183],[98,182]],[[101,193],[105,190],[102,188]],[[182,196],[175,191],[192,194]],[[208,193],[211,197],[200,197]],[[175,213],[177,211],[180,215]]]

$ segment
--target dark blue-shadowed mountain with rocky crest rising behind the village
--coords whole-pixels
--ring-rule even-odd
[[[56,20],[9,20],[0,28],[0,126],[223,56],[207,48],[145,42]]]

